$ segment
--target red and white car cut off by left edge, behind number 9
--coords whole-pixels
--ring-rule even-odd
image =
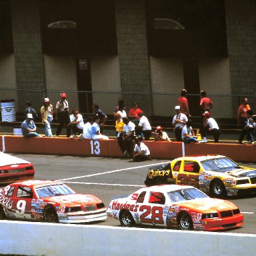
[[[0,185],[33,179],[35,170],[32,163],[0,152]]]

